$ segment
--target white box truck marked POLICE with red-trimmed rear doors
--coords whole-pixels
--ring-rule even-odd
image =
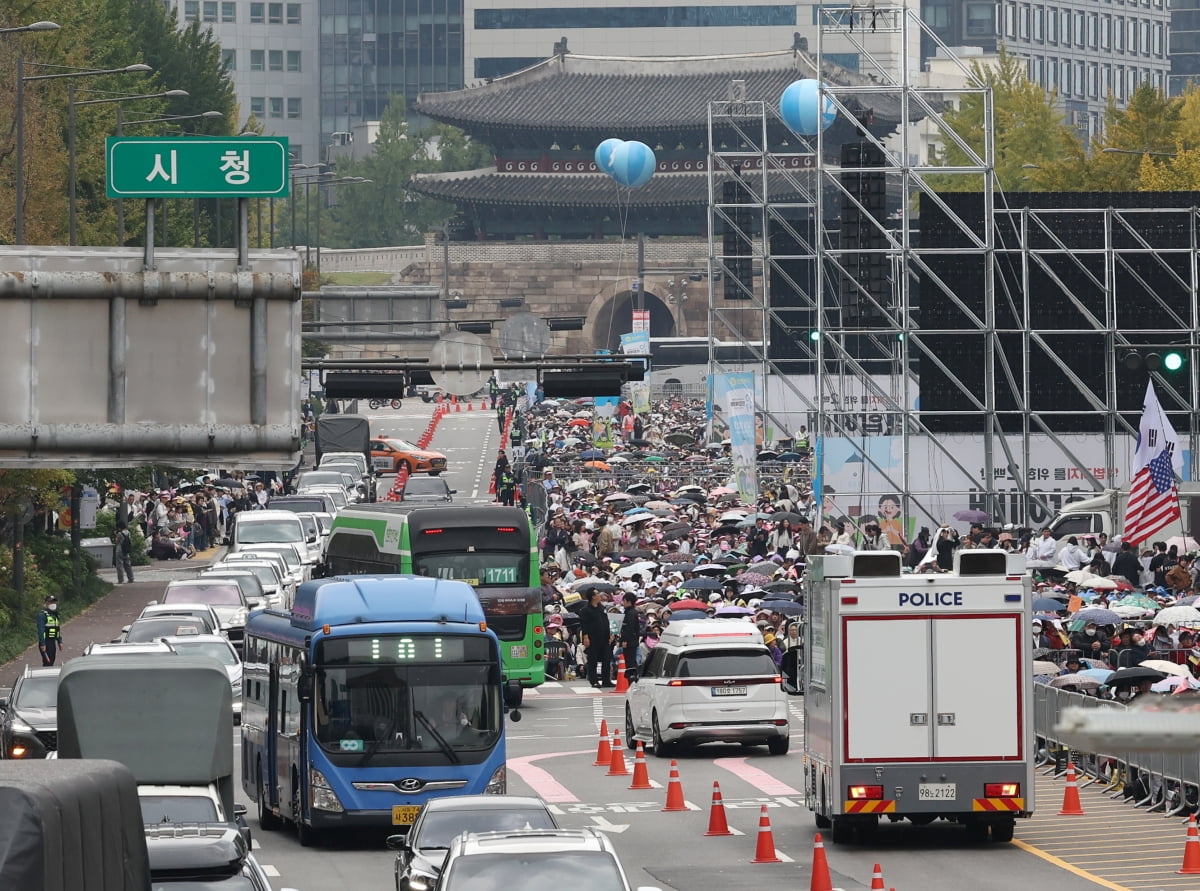
[[[1009,842],[1033,811],[1030,576],[967,550],[953,573],[901,574],[894,551],[808,568],[804,791],[834,842],[881,817]]]

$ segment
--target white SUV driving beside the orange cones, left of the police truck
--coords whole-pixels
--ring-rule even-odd
[[[625,740],[664,758],[676,743],[766,743],[787,753],[787,694],[762,633],[740,620],[672,622],[625,694]]]

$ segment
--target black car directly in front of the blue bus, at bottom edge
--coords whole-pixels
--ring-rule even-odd
[[[428,891],[450,842],[462,832],[558,829],[541,799],[523,795],[449,795],[430,799],[407,836],[389,836],[396,854],[396,891]],[[564,887],[570,883],[565,883]]]

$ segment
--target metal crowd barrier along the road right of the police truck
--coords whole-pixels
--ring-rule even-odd
[[[1033,726],[1037,764],[1046,773],[1062,775],[1074,764],[1080,785],[1104,787],[1114,800],[1151,813],[1176,817],[1200,809],[1200,752],[1082,752],[1060,738],[1055,728],[1062,711],[1128,708],[1123,702],[1084,693],[1033,684]]]

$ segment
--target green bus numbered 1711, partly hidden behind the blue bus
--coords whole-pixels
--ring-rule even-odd
[[[524,689],[546,680],[538,557],[536,536],[521,508],[379,502],[337,513],[325,570],[329,575],[403,573],[466,581],[479,594],[487,627],[500,639],[504,678],[518,681]]]

